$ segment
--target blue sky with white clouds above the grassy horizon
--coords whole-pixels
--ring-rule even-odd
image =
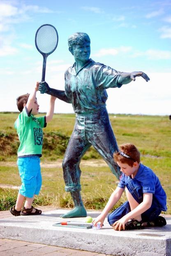
[[[59,35],[46,62],[50,87],[64,90],[65,70],[74,63],[67,39],[85,32],[91,59],[122,72],[143,71],[150,78],[107,89],[109,113],[171,114],[170,0],[0,0],[0,111],[18,111],[16,98],[41,81],[43,57],[35,33],[47,23]],[[49,95],[38,92],[37,101],[39,111],[46,112]],[[57,99],[55,113],[74,111]]]

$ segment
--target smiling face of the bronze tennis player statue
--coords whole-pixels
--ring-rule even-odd
[[[85,42],[83,45],[76,45],[75,49],[73,48],[73,55],[75,61],[88,61],[90,57],[90,43]]]

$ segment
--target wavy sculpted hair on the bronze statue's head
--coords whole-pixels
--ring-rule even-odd
[[[77,33],[72,34],[68,38],[69,48],[75,48],[76,45],[83,45],[85,43],[90,43],[90,38],[89,38],[88,34],[86,34],[86,33],[77,32]],[[69,51],[70,51],[70,49],[69,49]]]

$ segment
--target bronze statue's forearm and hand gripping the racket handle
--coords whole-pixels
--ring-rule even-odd
[[[46,82],[39,83],[39,91],[41,93],[47,93],[52,96],[55,96],[56,98],[60,99],[61,101],[71,103],[71,99],[69,99],[67,97],[67,95],[65,94],[65,91],[50,88]]]

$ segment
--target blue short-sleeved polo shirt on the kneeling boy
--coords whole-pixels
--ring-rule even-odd
[[[130,177],[126,176],[123,172],[118,183],[119,188],[125,188],[125,184]],[[143,193],[152,193],[161,205],[162,211],[167,211],[166,207],[166,193],[160,184],[159,178],[147,166],[140,164],[139,170],[132,181],[139,181],[142,186]]]

